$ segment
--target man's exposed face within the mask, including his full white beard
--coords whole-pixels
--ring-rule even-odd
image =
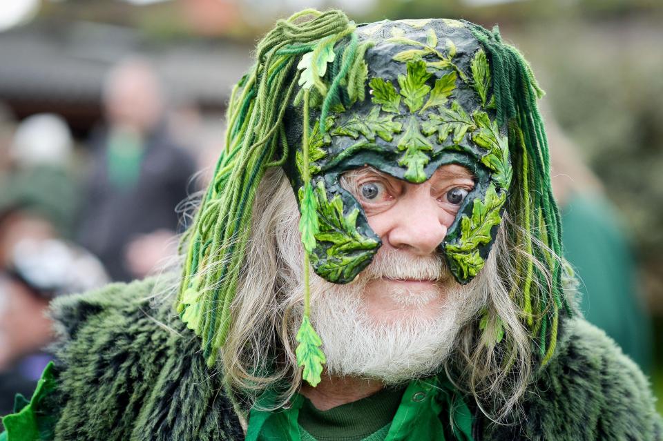
[[[383,246],[348,284],[311,275],[311,320],[327,372],[390,384],[433,373],[485,304],[482,277],[459,284],[439,252],[473,176],[448,164],[411,184],[365,167],[345,173],[341,185]]]

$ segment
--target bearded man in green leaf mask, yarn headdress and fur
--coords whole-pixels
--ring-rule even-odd
[[[57,302],[59,364],[6,427],[660,439],[644,375],[570,304],[539,94],[465,21],[278,22],[233,90],[177,313],[145,300],[166,280]]]

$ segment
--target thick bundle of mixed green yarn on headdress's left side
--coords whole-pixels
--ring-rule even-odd
[[[195,306],[189,325],[202,338],[210,365],[231,326],[256,189],[267,169],[280,166],[288,155],[283,119],[298,84],[298,59],[321,39],[338,41],[352,30],[354,23],[334,10],[306,10],[278,21],[258,43],[256,64],[231,92],[226,145],[181,244],[188,248],[177,311]],[[193,304],[182,303],[187,290],[195,293]]]

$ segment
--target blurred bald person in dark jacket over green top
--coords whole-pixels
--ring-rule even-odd
[[[186,198],[195,161],[169,133],[166,97],[146,61],[113,68],[103,100],[106,124],[92,139],[77,237],[113,280],[128,281],[144,277],[174,251],[175,207]]]

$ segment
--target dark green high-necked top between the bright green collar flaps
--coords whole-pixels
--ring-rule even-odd
[[[318,441],[359,441],[391,424],[401,404],[405,388],[385,387],[378,393],[355,402],[320,411],[304,398],[298,423]],[[386,435],[386,432],[385,432]]]

